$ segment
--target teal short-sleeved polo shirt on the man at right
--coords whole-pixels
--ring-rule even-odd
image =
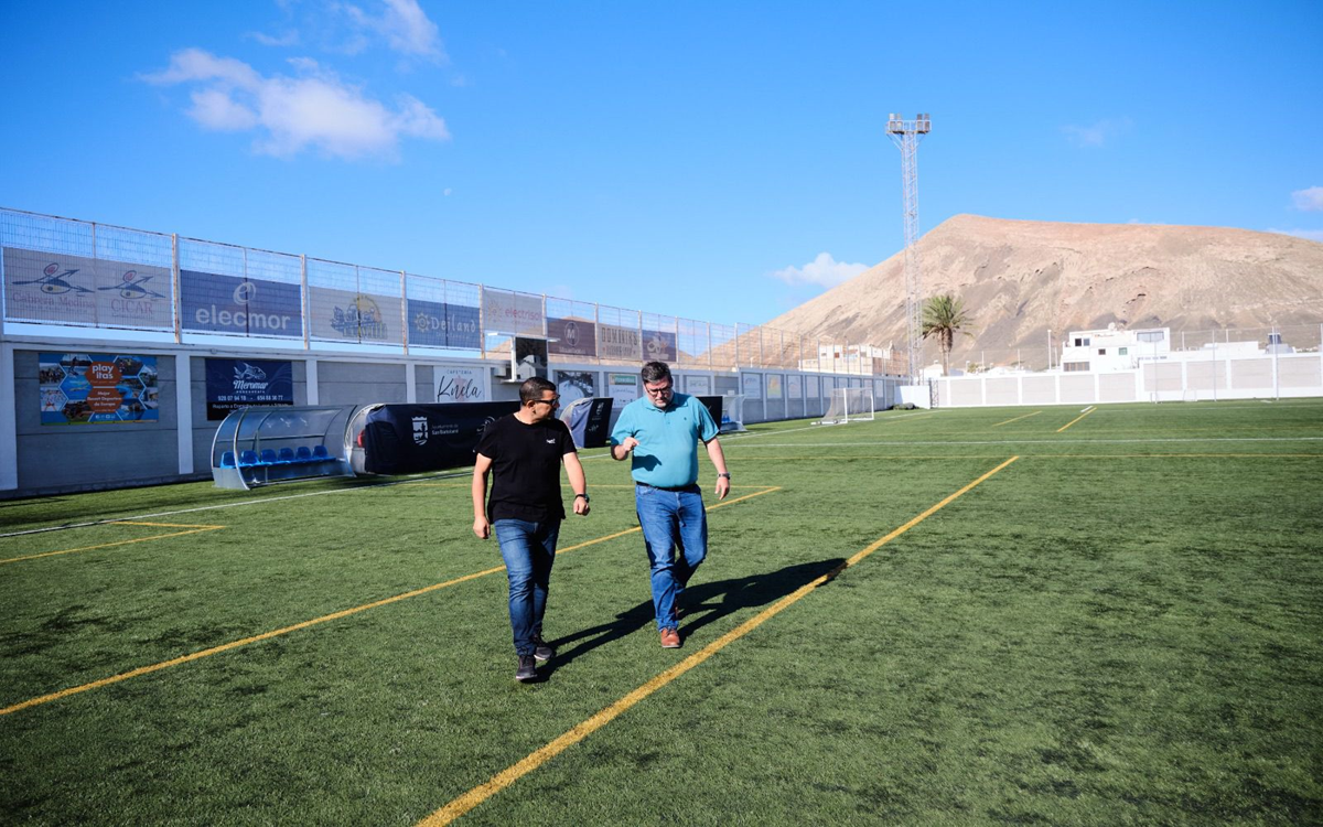
[[[699,442],[720,433],[712,414],[696,397],[677,393],[669,408],[658,408],[647,397],[634,400],[620,412],[611,430],[611,446],[626,437],[639,441],[631,457],[634,480],[658,488],[679,488],[699,482]]]

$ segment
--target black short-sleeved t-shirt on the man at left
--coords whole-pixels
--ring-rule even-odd
[[[501,417],[483,431],[478,453],[492,460],[488,520],[565,519],[561,459],[574,453],[574,439],[564,422],[524,425],[515,414]]]

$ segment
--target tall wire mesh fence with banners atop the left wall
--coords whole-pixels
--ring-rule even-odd
[[[177,234],[0,209],[3,318],[13,324],[377,345],[402,353],[509,352],[544,336],[554,361],[900,374],[902,351],[766,326],[720,324],[324,261]],[[882,353],[863,348],[864,353]]]

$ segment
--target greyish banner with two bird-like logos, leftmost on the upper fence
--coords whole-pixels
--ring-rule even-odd
[[[16,322],[175,327],[168,267],[5,247],[4,296]]]

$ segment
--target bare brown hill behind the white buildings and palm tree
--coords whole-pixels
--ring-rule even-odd
[[[1007,364],[1021,348],[1025,363],[1045,361],[1048,328],[1058,344],[1064,331],[1109,323],[1207,335],[1273,324],[1316,331],[1323,320],[1323,243],[1291,236],[955,216],[918,246],[923,296],[953,292],[972,320],[953,365],[983,355]],[[767,326],[904,348],[904,259],[897,253]],[[923,363],[935,359],[926,343]]]

